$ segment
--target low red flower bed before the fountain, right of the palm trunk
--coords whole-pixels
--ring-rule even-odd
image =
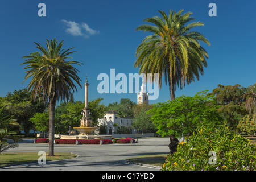
[[[79,139],[78,144],[100,144],[100,139]],[[112,140],[102,139],[102,144],[113,143]],[[55,144],[76,144],[76,139],[55,139]]]

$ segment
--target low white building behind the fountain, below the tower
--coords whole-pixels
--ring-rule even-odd
[[[131,123],[133,122],[132,119],[133,118],[131,117],[119,118],[118,113],[116,111],[110,110],[106,112],[104,118],[99,119],[99,125],[106,125],[106,134],[112,135],[112,133],[117,130],[117,127],[113,126],[114,123],[117,123],[118,126],[130,127]]]

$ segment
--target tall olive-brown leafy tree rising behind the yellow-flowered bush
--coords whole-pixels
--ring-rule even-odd
[[[220,105],[218,111],[232,130],[236,130],[238,121],[247,114],[243,97],[245,92],[246,88],[242,88],[239,84],[234,86],[219,84],[213,89],[212,94],[216,96],[217,104]]]

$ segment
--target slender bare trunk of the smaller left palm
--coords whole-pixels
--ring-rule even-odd
[[[51,99],[49,103],[49,156],[54,155],[55,104],[55,99]]]

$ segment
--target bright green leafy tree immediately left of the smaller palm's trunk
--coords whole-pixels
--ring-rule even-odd
[[[46,132],[49,131],[49,113],[35,113],[34,117],[30,118],[30,121],[34,123],[35,129],[38,131],[43,131],[44,138],[46,138]]]

